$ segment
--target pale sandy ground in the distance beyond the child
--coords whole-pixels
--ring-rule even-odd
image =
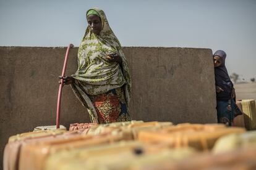
[[[256,83],[234,84],[236,89],[236,99],[256,100]]]

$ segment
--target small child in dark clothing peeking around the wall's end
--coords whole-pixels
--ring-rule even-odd
[[[234,85],[225,66],[226,52],[218,50],[213,54],[218,123],[232,126],[234,117],[242,115],[236,105]]]

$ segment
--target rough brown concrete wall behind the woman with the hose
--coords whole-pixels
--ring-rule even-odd
[[[62,47],[0,47],[0,153],[9,136],[55,123],[65,53]],[[210,49],[124,47],[124,53],[132,74],[133,119],[216,123]],[[66,75],[76,70],[74,48]],[[65,86],[61,124],[88,121],[87,111]]]

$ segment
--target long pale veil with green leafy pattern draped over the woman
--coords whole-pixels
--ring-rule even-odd
[[[124,86],[128,107],[131,81],[126,57],[122,52],[121,44],[108,24],[105,13],[101,9],[94,8],[93,10],[100,14],[101,31],[100,34],[96,35],[92,32],[90,26],[87,26],[79,46],[78,70],[74,75],[71,75],[75,79],[71,87],[77,98],[88,108],[91,121],[98,123],[98,116],[88,95],[102,94]],[[106,59],[108,54],[120,55],[122,65],[116,62],[108,62]]]

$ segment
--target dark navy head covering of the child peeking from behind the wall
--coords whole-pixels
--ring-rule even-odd
[[[221,57],[221,65],[215,68],[215,84],[223,89],[223,92],[216,94],[217,100],[229,100],[231,99],[233,83],[229,78],[228,70],[225,66],[226,52],[218,50],[213,54],[213,57],[216,55]]]

